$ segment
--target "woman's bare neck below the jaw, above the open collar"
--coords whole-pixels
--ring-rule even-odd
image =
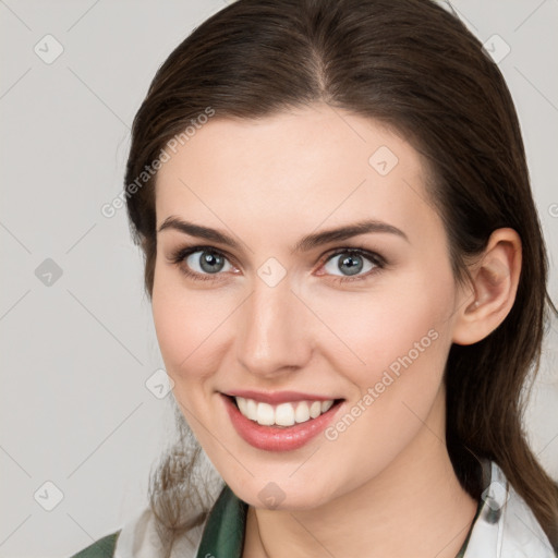
[[[442,411],[444,398],[405,450],[355,490],[312,510],[250,506],[243,558],[454,558],[477,502],[454,474]]]

